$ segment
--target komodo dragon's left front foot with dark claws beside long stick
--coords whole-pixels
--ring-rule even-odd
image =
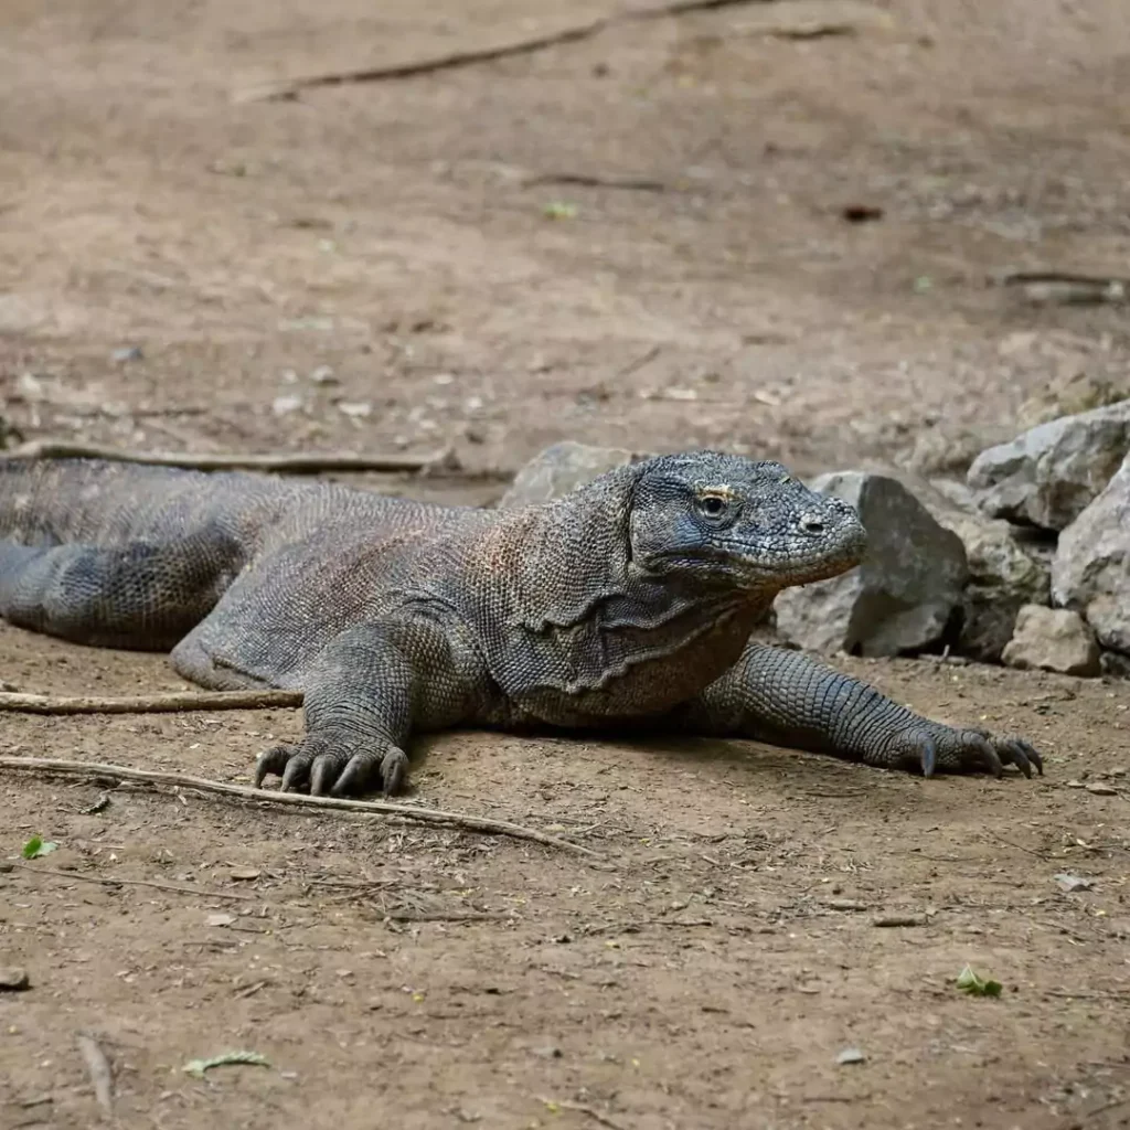
[[[386,797],[400,792],[408,779],[408,755],[391,744],[358,746],[357,737],[323,730],[268,749],[255,762],[255,788],[276,773],[282,777],[282,792],[308,788],[314,797],[347,797],[368,792],[377,784]]]

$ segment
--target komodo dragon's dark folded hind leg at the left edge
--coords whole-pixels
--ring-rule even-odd
[[[0,615],[75,643],[168,651],[215,607],[240,556],[218,531],[122,547],[0,541]]]

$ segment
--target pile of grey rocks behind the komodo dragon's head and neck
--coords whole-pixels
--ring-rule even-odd
[[[556,444],[502,505],[547,502],[634,458]],[[781,593],[783,642],[1130,675],[1130,400],[982,452],[965,484],[879,469],[810,485],[859,511],[868,550],[843,576]]]

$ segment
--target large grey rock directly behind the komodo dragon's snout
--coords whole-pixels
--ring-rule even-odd
[[[914,653],[939,643],[960,615],[968,576],[962,539],[889,476],[842,471],[811,487],[855,507],[867,554],[843,576],[782,592],[777,632],[810,651],[862,655]]]

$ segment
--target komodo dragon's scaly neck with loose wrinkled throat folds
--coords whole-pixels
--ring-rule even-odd
[[[620,468],[502,516],[472,542],[489,577],[473,605],[486,664],[512,702],[549,721],[654,710],[671,694],[654,678],[662,663],[679,664],[687,697],[698,693],[737,660],[775,593],[704,584],[641,559],[632,544],[640,476],[638,466]]]

